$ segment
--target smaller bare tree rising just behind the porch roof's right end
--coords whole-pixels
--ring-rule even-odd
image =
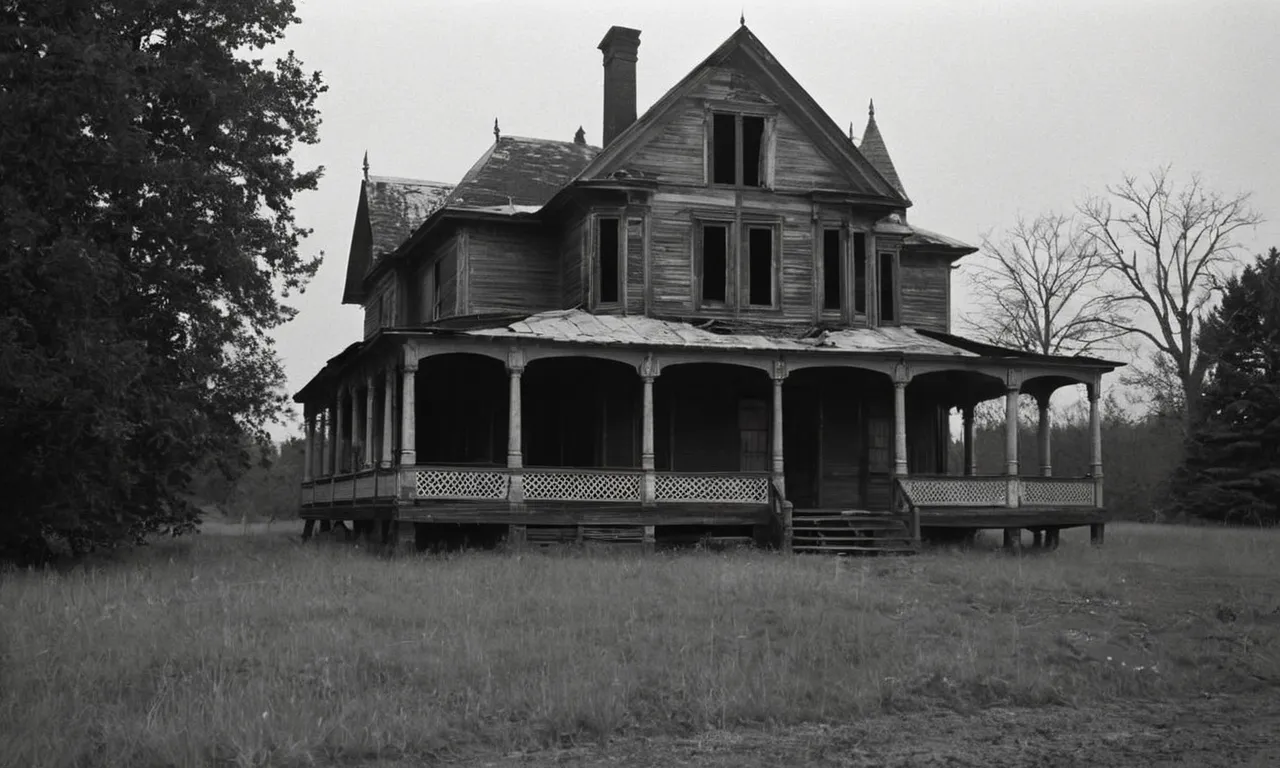
[[[983,237],[982,251],[987,259],[969,279],[982,308],[965,321],[991,343],[1088,355],[1125,334],[1124,317],[1098,288],[1107,266],[1074,218],[1019,218],[998,241]]]

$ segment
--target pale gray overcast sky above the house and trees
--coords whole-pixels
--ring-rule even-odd
[[[1075,0],[896,3],[298,0],[289,32],[329,84],[316,192],[296,200],[325,252],[276,333],[297,392],[361,337],[342,306],[361,157],[371,173],[457,182],[504,134],[600,140],[596,45],[641,31],[637,106],[737,28],[751,31],[841,125],[867,101],[915,204],[909,220],[977,244],[1019,214],[1070,211],[1121,174],[1171,164],[1268,220],[1240,241],[1280,247],[1280,3]],[[974,259],[974,257],[970,257]],[[954,280],[963,305],[961,280]],[[961,307],[963,308],[963,307]],[[276,429],[283,436],[285,429]]]

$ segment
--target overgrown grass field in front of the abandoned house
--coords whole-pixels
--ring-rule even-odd
[[[0,765],[529,763],[1280,691],[1276,531],[1111,526],[1103,549],[1068,531],[1023,557],[387,558],[297,527],[0,576]]]

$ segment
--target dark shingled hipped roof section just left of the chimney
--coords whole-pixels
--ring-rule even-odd
[[[462,177],[444,207],[454,211],[540,207],[599,152],[599,147],[568,141],[503,136]]]

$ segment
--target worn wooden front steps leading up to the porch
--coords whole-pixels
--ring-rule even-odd
[[[799,554],[914,554],[906,521],[892,512],[794,509],[791,550]]]

